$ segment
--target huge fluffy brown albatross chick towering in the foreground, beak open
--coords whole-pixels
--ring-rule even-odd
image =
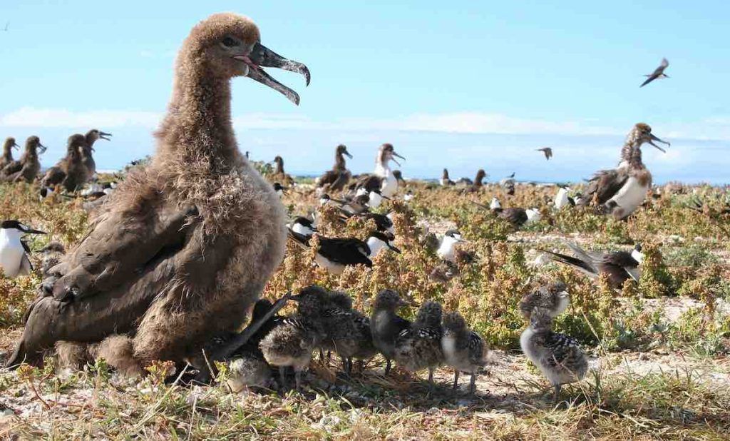
[[[50,270],[9,365],[38,364],[56,342],[100,342],[95,352],[112,366],[142,372],[242,324],[286,232],[279,198],[237,148],[230,80],[247,76],[299,101],[261,66],[309,79],[306,66],[262,46],[248,18],[217,14],[193,28],[150,166],[112,193],[91,233]]]

